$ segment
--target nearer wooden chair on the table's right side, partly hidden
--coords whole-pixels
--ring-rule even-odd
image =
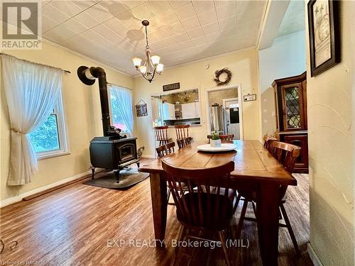
[[[301,148],[296,145],[292,145],[289,143],[281,143],[273,140],[273,147],[271,150],[271,154],[283,165],[283,167],[285,167],[285,170],[288,170],[288,172],[292,173],[293,168],[295,167],[295,161],[297,157],[300,155],[300,150]],[[300,248],[298,248],[297,240],[295,238],[295,233],[293,233],[290,219],[288,218],[288,215],[286,213],[285,206],[283,206],[283,204],[285,204],[287,199],[287,196],[285,195],[286,190],[287,190],[287,186],[280,186],[280,204],[279,204],[280,219],[283,218],[285,224],[279,223],[279,227],[288,228],[288,233],[290,234],[290,238],[293,242],[293,246],[295,248],[296,254],[300,255]],[[248,207],[249,202],[251,202],[253,206],[254,214],[256,215],[256,206],[254,204],[254,202],[256,201],[256,193],[239,191],[239,195],[236,201],[236,206],[238,205],[241,196],[244,197],[244,204],[241,209],[241,217],[239,218],[239,224],[238,224],[237,234],[236,234],[237,239],[239,239],[241,235],[241,228],[243,226],[244,220],[256,221],[256,219],[258,218],[257,216],[256,218],[245,217],[246,208]]]

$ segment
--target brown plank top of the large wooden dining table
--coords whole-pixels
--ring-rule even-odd
[[[197,141],[163,157],[171,165],[182,168],[209,168],[234,161],[232,178],[273,181],[285,185],[297,185],[296,179],[286,171],[258,140],[234,140],[236,151],[229,153],[202,153],[197,146],[207,141]],[[141,165],[140,172],[162,173],[161,159]]]

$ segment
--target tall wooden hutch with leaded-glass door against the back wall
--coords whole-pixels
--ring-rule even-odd
[[[308,172],[307,143],[307,77],[306,72],[275,79],[273,88],[276,107],[276,138],[300,146],[301,154],[294,172]]]

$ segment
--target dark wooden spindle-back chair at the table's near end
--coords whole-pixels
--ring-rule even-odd
[[[208,169],[185,169],[174,167],[162,160],[162,166],[176,204],[178,221],[182,225],[178,239],[183,240],[186,236],[201,239],[200,235],[194,235],[192,231],[217,232],[226,263],[231,265],[225,234],[230,228],[233,216],[233,203],[229,199],[229,192],[233,192],[233,189],[229,188],[229,179],[230,173],[234,171],[234,162]],[[187,193],[180,193],[182,184],[187,186]],[[222,184],[224,184],[223,187]],[[196,189],[193,189],[194,187]],[[212,192],[214,189],[217,192]],[[172,265],[174,265],[177,253],[178,248],[175,250]]]

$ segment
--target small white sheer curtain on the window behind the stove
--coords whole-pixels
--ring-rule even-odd
[[[124,89],[116,85],[110,84],[110,94],[114,96],[118,102],[119,113],[126,125],[126,131],[133,133],[133,106],[132,93],[130,89]]]

